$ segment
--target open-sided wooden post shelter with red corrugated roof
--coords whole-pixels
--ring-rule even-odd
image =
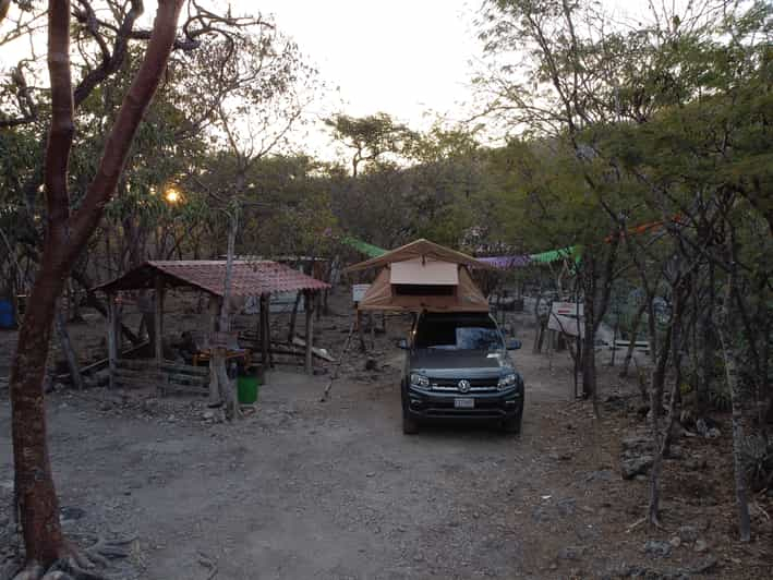
[[[142,368],[132,368],[131,363],[123,363],[119,370],[119,321],[117,299],[122,291],[152,290],[154,300],[155,340],[155,379],[164,382],[171,389],[177,379],[183,386],[197,385],[206,379],[208,371],[196,366],[182,365],[164,359],[164,295],[169,289],[191,289],[206,292],[222,304],[226,287],[225,261],[153,261],[146,262],[123,276],[95,288],[108,297],[108,362],[110,384],[117,377],[131,382]],[[270,330],[268,324],[268,300],[273,293],[300,291],[306,300],[305,307],[305,371],[312,373],[314,300],[313,295],[329,288],[329,285],[306,276],[283,264],[271,261],[234,261],[232,264],[230,295],[231,302],[238,303],[249,297],[258,297],[261,301],[257,336],[259,337],[262,361],[268,363]],[[231,306],[232,307],[232,306]],[[218,333],[212,333],[213,339],[221,340]],[[135,362],[136,364],[136,362]],[[128,367],[128,368],[126,368]],[[147,367],[147,365],[145,365]],[[206,375],[206,376],[205,376]],[[204,378],[201,378],[204,377]],[[146,378],[146,377],[142,377]],[[185,390],[180,388],[178,390]]]

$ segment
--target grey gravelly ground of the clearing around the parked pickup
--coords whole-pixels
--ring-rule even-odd
[[[335,354],[350,322],[338,310],[321,324]],[[752,498],[753,541],[736,541],[726,420],[718,436],[676,443],[664,527],[650,530],[638,389],[602,366],[594,421],[573,399],[568,357],[532,354],[528,318],[512,322],[528,388],[519,437],[462,425],[402,435],[397,319],[347,362],[327,402],[329,365],[315,377],[278,370],[235,424],[212,419],[203,399],[51,392],[64,528],[84,545],[134,539],[110,570],[121,579],[773,576],[770,497]],[[81,349],[98,349],[98,335],[80,328]],[[0,353],[13,339],[0,334]],[[0,565],[17,546],[10,428],[3,391]]]

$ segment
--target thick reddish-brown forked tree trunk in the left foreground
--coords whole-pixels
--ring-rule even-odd
[[[11,368],[13,459],[27,569],[48,568],[64,553],[48,456],[43,383],[63,281],[101,218],[116,189],[136,129],[153,99],[176,36],[182,0],[159,1],[145,60],[118,112],[94,181],[71,212],[68,168],[72,148],[73,96],[70,72],[70,2],[50,1],[48,70],[51,123],[46,145],[46,238],[29,293]]]

